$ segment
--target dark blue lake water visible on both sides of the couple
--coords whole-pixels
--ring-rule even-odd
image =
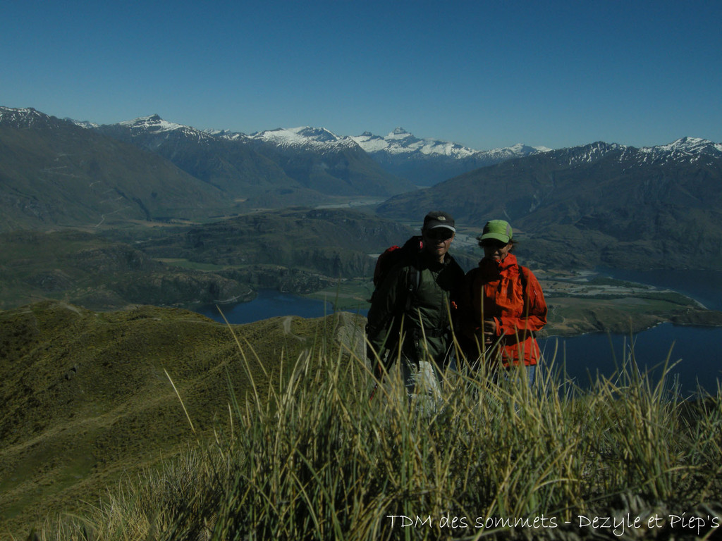
[[[627,271],[600,271],[614,278],[648,283],[680,291],[711,309],[722,309],[722,272],[684,271],[634,273]],[[279,293],[264,289],[251,302],[222,307],[228,321],[234,324],[265,320],[269,317],[296,315],[300,317],[323,317],[331,314],[328,302]],[[203,315],[222,322],[215,307],[200,311]],[[360,312],[365,315],[365,311]],[[671,375],[678,379],[684,396],[692,395],[699,383],[704,390],[715,394],[717,380],[722,381],[722,327],[688,327],[665,323],[635,335],[587,334],[571,338],[545,338],[539,340],[548,359],[557,348],[555,364],[565,364],[567,374],[581,387],[596,377],[597,372],[606,377],[619,373],[618,366],[628,358],[633,346],[635,359],[642,371],[656,369],[669,357],[677,363]],[[679,361],[679,362],[677,362]]]

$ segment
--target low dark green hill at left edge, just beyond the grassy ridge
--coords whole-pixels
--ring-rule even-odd
[[[0,233],[0,310],[38,299],[85,308],[199,306],[250,300],[248,283],[161,263],[136,247],[74,230]]]

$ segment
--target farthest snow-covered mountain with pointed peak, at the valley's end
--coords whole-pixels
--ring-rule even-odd
[[[507,159],[549,151],[546,147],[523,144],[503,149],[474,150],[448,141],[419,139],[404,128],[396,128],[385,137],[364,132],[352,139],[386,171],[420,186],[434,185]]]

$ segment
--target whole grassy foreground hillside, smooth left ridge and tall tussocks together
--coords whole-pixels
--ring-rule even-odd
[[[369,400],[361,352],[335,346],[358,343],[352,315],[235,327],[248,370],[227,329],[180,310],[43,304],[6,322],[0,516],[17,538],[692,541],[722,525],[720,390],[685,402],[633,351],[589,390],[551,369],[533,389],[462,372],[432,406],[394,371]]]

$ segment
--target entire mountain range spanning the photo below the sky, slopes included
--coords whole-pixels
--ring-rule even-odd
[[[384,201],[376,212],[396,220],[430,205],[467,226],[507,216],[541,236],[527,249],[542,250],[539,260],[617,264],[632,257],[619,250],[632,242],[635,265],[685,268],[689,252],[670,250],[684,245],[722,265],[722,144],[703,138],[495,152],[400,128],[386,137],[308,126],[245,135],[157,115],[97,126],[6,107],[0,136],[0,230],[202,221],[364,198]]]

